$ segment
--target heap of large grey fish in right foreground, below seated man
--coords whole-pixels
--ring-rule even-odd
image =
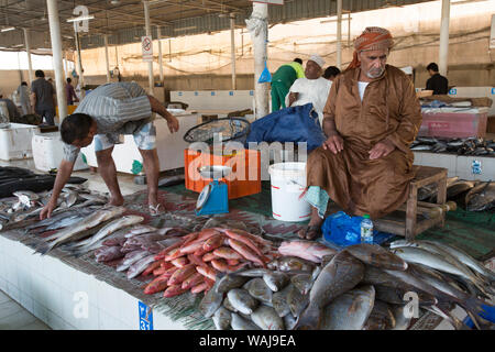
[[[479,314],[487,306],[484,298],[494,293],[495,274],[454,248],[397,241],[392,251],[356,244],[337,252],[305,242],[284,244],[292,254],[306,256],[302,264],[285,267],[288,271],[270,265],[276,270],[219,274],[201,300],[201,314],[219,330],[406,330],[414,316],[406,311],[406,297],[413,293],[420,309],[455,329],[468,329],[451,314],[455,305],[476,327],[493,328]]]

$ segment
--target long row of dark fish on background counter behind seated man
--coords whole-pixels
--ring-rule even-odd
[[[418,136],[410,145],[410,150],[458,155],[495,156],[495,140]]]

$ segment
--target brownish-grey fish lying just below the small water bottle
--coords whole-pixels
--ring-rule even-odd
[[[407,268],[406,262],[377,244],[360,243],[346,246],[343,251],[351,253],[369,265],[391,271],[405,271]]]

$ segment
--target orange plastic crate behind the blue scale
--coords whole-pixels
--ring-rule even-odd
[[[221,178],[229,189],[229,199],[261,193],[260,151],[244,150],[231,155],[215,155],[199,151],[185,150],[186,188],[200,193],[212,179],[202,178],[198,168],[207,165],[232,167],[232,174]]]

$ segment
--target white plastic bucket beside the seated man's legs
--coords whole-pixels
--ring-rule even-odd
[[[280,221],[306,221],[311,207],[299,199],[306,188],[306,163],[279,163],[270,166],[272,182],[272,213]]]

